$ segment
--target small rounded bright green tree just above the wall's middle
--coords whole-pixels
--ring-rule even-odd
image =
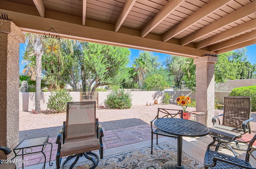
[[[146,77],[144,81],[144,85],[146,90],[154,90],[154,91],[162,91],[165,87],[168,87],[168,83],[164,79],[162,75],[152,75],[150,77]]]

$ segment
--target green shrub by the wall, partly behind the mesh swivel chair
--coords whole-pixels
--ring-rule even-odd
[[[50,110],[56,110],[57,112],[66,112],[67,102],[72,102],[73,98],[70,96],[70,92],[65,89],[55,90],[51,92],[49,100],[46,103],[47,108]]]

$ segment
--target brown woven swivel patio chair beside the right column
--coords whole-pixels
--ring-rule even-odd
[[[219,117],[223,116],[222,124],[220,124]],[[233,148],[243,150],[239,146],[238,138],[241,139],[242,135],[249,132],[251,133],[250,121],[251,116],[251,97],[250,96],[224,96],[224,111],[219,116],[212,118],[213,126],[210,127],[210,136],[213,137],[213,145],[218,141],[215,151],[218,151],[220,145],[224,145],[234,153],[237,153]],[[230,143],[235,141],[236,146],[232,147]]]

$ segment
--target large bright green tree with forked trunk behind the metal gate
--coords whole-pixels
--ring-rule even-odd
[[[95,91],[99,86],[119,85],[128,78],[126,65],[130,51],[127,48],[88,43],[84,45],[83,67],[88,91]],[[82,77],[83,78],[83,77]],[[85,83],[84,81],[82,83]]]

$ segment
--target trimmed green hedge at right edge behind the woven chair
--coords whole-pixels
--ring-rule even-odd
[[[252,111],[256,111],[256,85],[233,88],[229,96],[251,96]]]

